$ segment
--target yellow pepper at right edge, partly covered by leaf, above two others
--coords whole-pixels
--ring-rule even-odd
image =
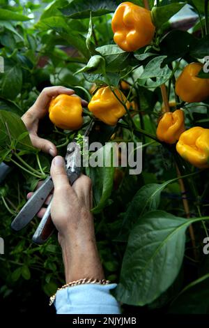
[[[176,80],[176,94],[187,103],[199,103],[209,96],[209,79],[196,77],[202,66],[201,63],[185,66]]]

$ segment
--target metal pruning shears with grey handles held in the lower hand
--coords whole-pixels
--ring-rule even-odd
[[[86,128],[84,137],[88,136],[88,134],[91,132],[91,129],[93,128],[93,125],[94,121],[92,120]],[[67,146],[67,151],[65,154],[65,168],[71,186],[79,178],[82,171],[80,156],[79,144],[76,142],[76,140],[71,141]],[[19,231],[22,230],[29,222],[31,222],[33,217],[36,216],[38,211],[40,211],[42,205],[45,203],[45,200],[47,200],[47,197],[52,192],[53,188],[54,185],[52,178],[47,177],[40,188],[38,188],[38,190],[33,193],[32,197],[26,202],[24,207],[22,207],[20,212],[17,214],[11,224],[11,228],[13,228],[15,231]],[[47,210],[45,211],[45,214],[42,217],[36,232],[33,234],[33,241],[36,244],[44,244],[45,241],[47,241],[47,239],[54,232],[55,228],[50,216],[52,199],[47,206]]]

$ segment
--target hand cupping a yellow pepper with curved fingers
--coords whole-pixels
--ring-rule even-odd
[[[56,156],[57,154],[56,146],[53,142],[38,137],[38,123],[40,119],[47,114],[48,106],[52,98],[59,94],[68,94],[71,96],[75,94],[75,91],[61,86],[47,87],[42,90],[33,106],[22,116],[22,121],[24,121],[24,124],[29,131],[33,147],[36,147],[45,153],[49,153],[52,156]],[[86,107],[88,103],[85,100],[82,100],[82,105]]]

